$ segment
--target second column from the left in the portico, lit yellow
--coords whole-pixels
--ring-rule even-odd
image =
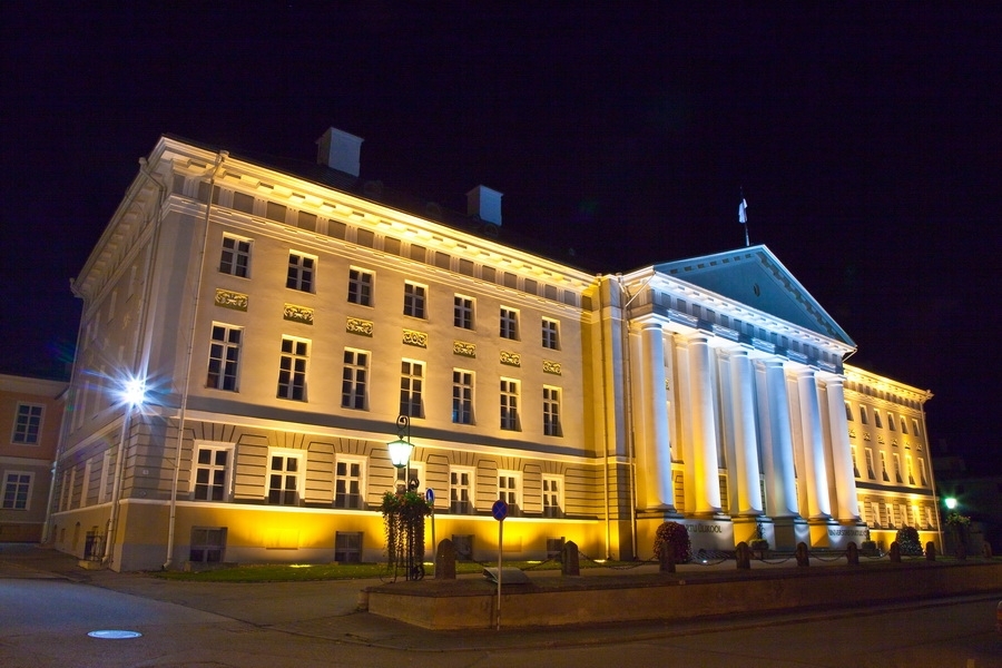
[[[720,479],[717,463],[717,429],[714,415],[711,353],[705,336],[689,338],[689,407],[692,420],[696,513],[720,511]]]

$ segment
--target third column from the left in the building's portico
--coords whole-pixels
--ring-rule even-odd
[[[762,514],[762,490],[758,484],[755,395],[752,389],[752,361],[748,358],[748,352],[731,352],[729,365],[738,514],[757,515]]]

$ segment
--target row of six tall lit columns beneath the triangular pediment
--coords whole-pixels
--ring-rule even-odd
[[[645,510],[671,510],[676,501],[661,326],[642,325],[639,340],[640,360],[636,369],[640,374],[641,396],[632,402],[639,410],[642,434],[637,444],[641,471],[638,504]],[[678,383],[674,400],[680,404],[676,414],[682,440],[676,446],[681,448],[686,463],[692,513],[730,512],[721,508],[718,481],[718,434],[723,433],[728,446],[733,446],[728,449],[733,460],[727,461],[727,469],[729,480],[735,483],[731,493],[736,494],[736,514],[826,520],[833,517],[828,484],[832,480],[836,500],[834,517],[843,521],[858,519],[839,376],[821,376],[817,371],[799,365],[790,370],[779,357],[765,354],[753,357],[748,348],[736,345],[724,352],[725,364],[717,374],[717,355],[709,336],[675,335],[672,347]],[[824,403],[821,383],[824,383]],[[718,422],[725,425],[724,430],[718,429]],[[795,444],[799,445],[804,466],[799,471],[806,491],[803,509],[797,499]],[[763,504],[759,488],[762,473],[768,508]]]

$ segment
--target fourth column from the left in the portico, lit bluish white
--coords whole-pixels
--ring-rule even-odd
[[[786,397],[786,371],[780,360],[763,362],[765,375],[765,424],[763,443],[765,478],[768,493],[768,514],[774,518],[795,517],[797,489],[793,461],[793,434],[789,426],[789,401]]]

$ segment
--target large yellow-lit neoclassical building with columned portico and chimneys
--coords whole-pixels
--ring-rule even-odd
[[[764,246],[596,275],[503,243],[500,193],[414,206],[357,178],[361,139],[318,147],[276,167],[163,137],[143,161],[75,283],[58,548],[110,542],[90,557],[118,570],[376,561],[402,413],[438,539],[478,559],[499,497],[523,559],[648,558],[666,518],[707,548],[759,527],[841,547],[871,495],[931,503],[931,480],[854,474],[846,406],[905,386],[849,390],[854,344]],[[927,395],[903,396],[921,419]]]

